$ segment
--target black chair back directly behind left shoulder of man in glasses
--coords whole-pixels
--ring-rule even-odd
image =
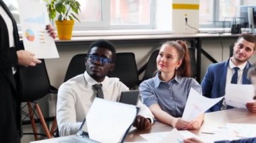
[[[84,73],[86,70],[86,56],[87,54],[76,54],[73,56],[73,58],[71,58],[69,66],[67,67],[64,82]]]

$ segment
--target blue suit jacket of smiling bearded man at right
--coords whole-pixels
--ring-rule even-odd
[[[201,83],[203,95],[209,98],[217,98],[225,95],[226,88],[226,72],[228,69],[228,62],[218,62],[216,64],[210,64],[208,66],[205,77],[203,77],[203,81]],[[243,85],[251,84],[251,81],[247,79],[247,73],[251,64],[247,62],[245,69],[243,70]],[[222,101],[216,103],[213,107],[211,107],[208,111],[220,111],[220,107],[222,106]]]

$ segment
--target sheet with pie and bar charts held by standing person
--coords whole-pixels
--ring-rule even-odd
[[[55,42],[45,30],[50,23],[46,3],[18,0],[24,48],[36,58],[59,58]]]

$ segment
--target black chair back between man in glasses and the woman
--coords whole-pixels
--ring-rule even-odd
[[[139,76],[133,52],[119,52],[116,56],[115,68],[108,77],[118,77],[129,89],[137,88]]]

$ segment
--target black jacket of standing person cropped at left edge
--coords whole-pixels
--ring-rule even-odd
[[[9,47],[7,26],[0,15],[0,138],[4,142],[20,142],[20,97],[16,88],[15,77],[11,67],[18,64],[16,49],[20,48],[18,29],[11,13],[0,0],[0,6],[13,22],[15,48]]]

